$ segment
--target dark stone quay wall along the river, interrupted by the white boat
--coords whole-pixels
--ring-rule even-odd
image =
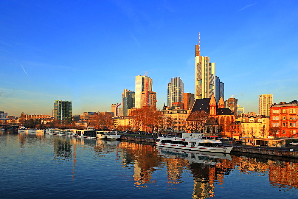
[[[139,137],[139,136],[121,136],[120,140],[131,140],[137,142],[149,142],[155,143],[157,142],[156,137]],[[223,144],[224,146],[228,146],[228,144]],[[269,155],[269,156],[282,156],[289,158],[298,158],[298,151],[290,151],[290,149],[282,149],[275,147],[250,147],[247,145],[233,145],[233,152],[241,152],[241,153],[255,153],[261,155]]]

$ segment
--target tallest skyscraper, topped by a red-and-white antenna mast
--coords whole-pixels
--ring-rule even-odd
[[[215,63],[200,55],[199,34],[199,44],[195,45],[195,98],[208,98],[212,94],[215,94]]]

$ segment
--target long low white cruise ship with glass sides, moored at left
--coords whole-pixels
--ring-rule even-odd
[[[95,130],[94,128],[87,128],[84,130],[47,128],[46,134],[111,140],[119,139],[121,137],[116,131]]]

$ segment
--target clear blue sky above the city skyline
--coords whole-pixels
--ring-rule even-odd
[[[0,1],[0,111],[111,111],[135,76],[195,89],[195,44],[246,112],[258,96],[298,100],[298,1]]]

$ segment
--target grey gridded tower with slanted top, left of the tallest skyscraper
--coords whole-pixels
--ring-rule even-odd
[[[172,106],[174,102],[183,103],[184,83],[180,77],[171,78],[171,82],[168,83],[168,106]]]

